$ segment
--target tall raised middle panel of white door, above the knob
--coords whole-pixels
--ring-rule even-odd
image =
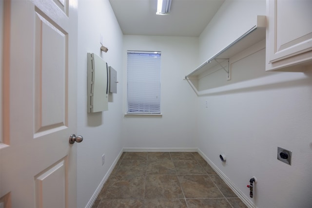
[[[38,9],[37,9],[38,10]],[[42,12],[40,12],[42,14]],[[35,137],[37,132],[66,126],[67,34],[36,12]],[[56,99],[57,98],[57,99]],[[56,129],[57,128],[57,129]]]

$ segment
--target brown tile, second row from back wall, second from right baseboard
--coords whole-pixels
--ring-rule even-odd
[[[207,174],[196,160],[173,160],[173,162],[177,174]]]

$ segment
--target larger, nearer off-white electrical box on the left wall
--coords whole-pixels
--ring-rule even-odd
[[[109,70],[107,63],[88,53],[87,100],[88,113],[108,111]]]

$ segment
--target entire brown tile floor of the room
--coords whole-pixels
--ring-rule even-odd
[[[92,208],[246,208],[197,152],[124,152]]]

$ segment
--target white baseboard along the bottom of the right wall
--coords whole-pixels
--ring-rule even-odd
[[[256,206],[244,195],[239,189],[237,189],[230,179],[220,170],[215,164],[198,149],[198,153],[206,160],[206,162],[215,170],[215,172],[222,178],[222,180],[233,190],[233,192],[242,200],[242,202],[249,208],[256,208]]]

